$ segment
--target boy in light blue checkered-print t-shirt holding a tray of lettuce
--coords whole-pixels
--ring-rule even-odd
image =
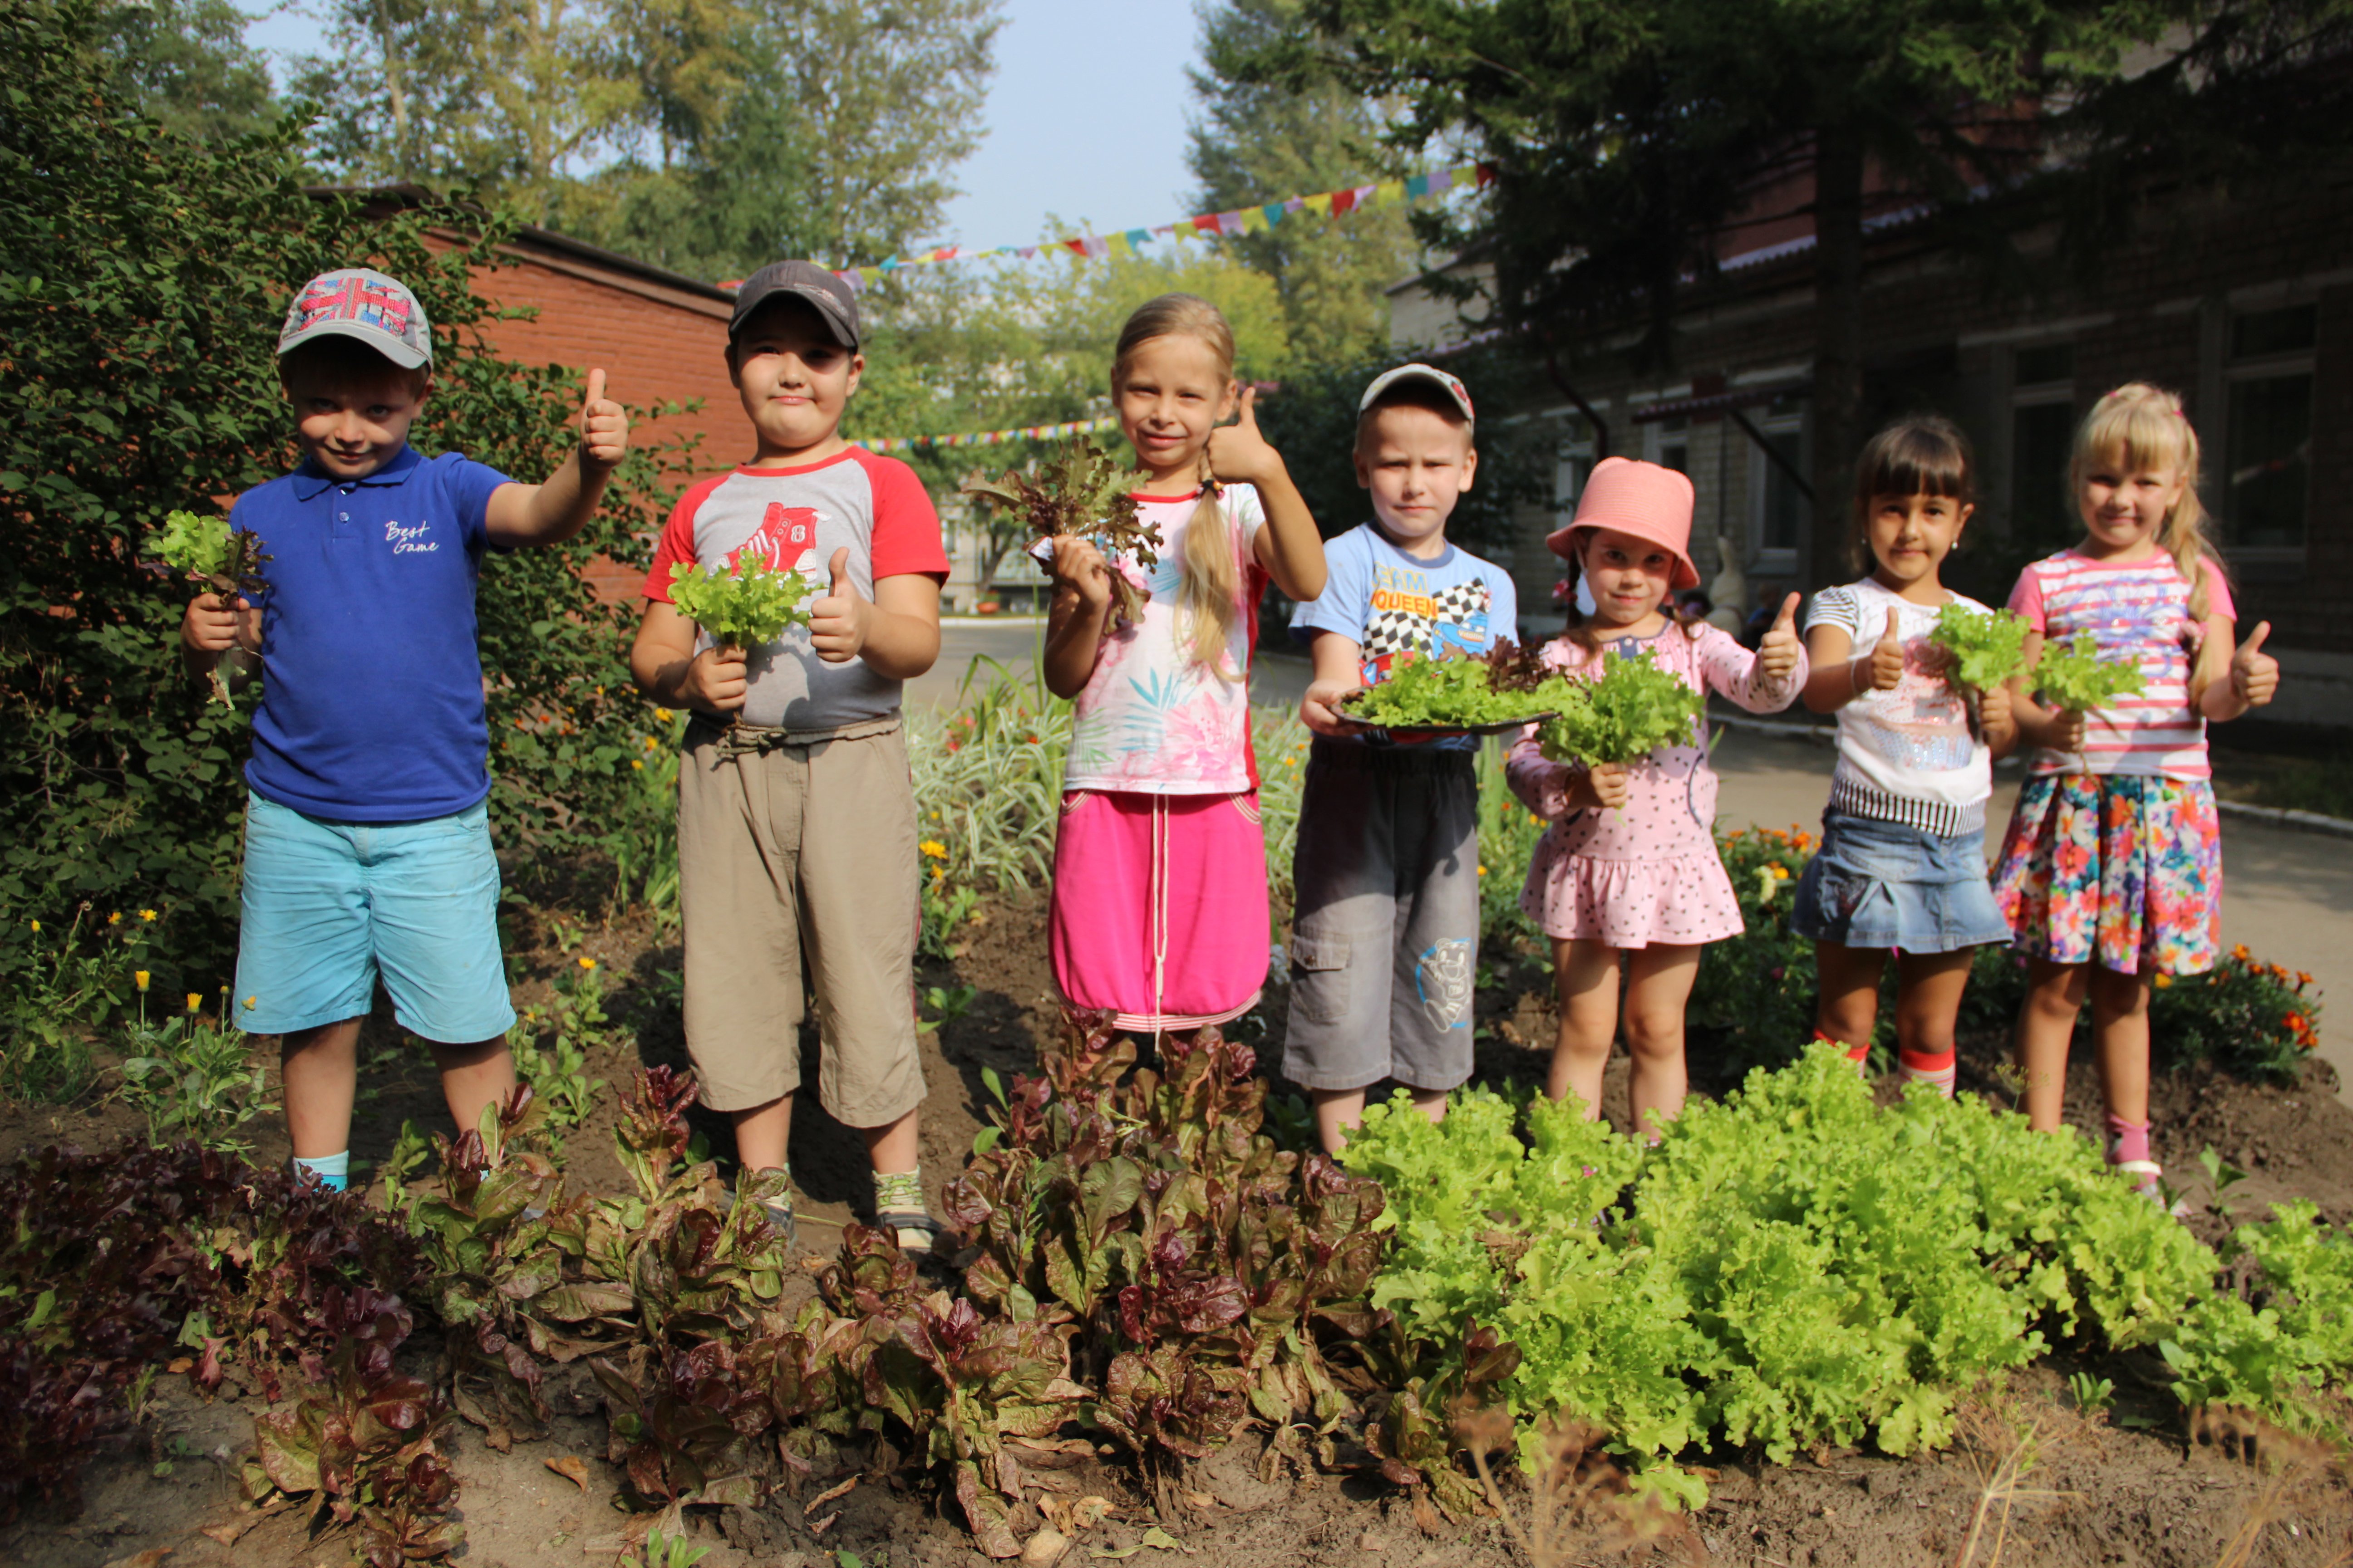
[[[1299,705],[1315,743],[1292,853],[1282,1072],[1315,1098],[1329,1152],[1381,1079],[1405,1084],[1435,1121],[1471,1077],[1478,741],[1395,745],[1334,703],[1377,686],[1400,654],[1478,658],[1518,637],[1511,576],[1447,543],[1475,473],[1461,381],[1428,364],[1377,376],[1355,423],[1355,480],[1372,491],[1374,522],[1325,545],[1322,597],[1292,621],[1315,658]]]

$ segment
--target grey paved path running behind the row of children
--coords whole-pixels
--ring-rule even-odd
[[[939,665],[911,684],[911,705],[953,705],[976,658],[1028,675],[1042,637],[1038,621],[948,621]],[[1257,703],[1294,705],[1306,684],[1301,654],[1261,651],[1249,670]],[[1718,820],[1819,830],[1831,762],[1831,748],[1819,741],[1725,729],[1715,750],[1725,780]],[[2019,795],[2019,771],[1998,769],[1993,778],[1986,816],[1998,844]],[[2320,1053],[2353,1084],[2353,839],[2224,818],[2224,940],[2245,943],[2261,959],[2308,971],[2320,983]]]

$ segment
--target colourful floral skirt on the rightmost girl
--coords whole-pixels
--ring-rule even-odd
[[[2026,780],[1993,898],[2012,945],[2054,964],[2200,976],[2221,950],[2221,813],[2202,778]]]

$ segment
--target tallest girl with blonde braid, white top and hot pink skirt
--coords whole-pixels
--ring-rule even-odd
[[[1322,592],[1322,541],[1233,381],[1233,329],[1162,294],[1127,317],[1111,397],[1158,564],[1054,543],[1045,679],[1078,698],[1054,837],[1054,983],[1136,1034],[1249,1011],[1266,985],[1266,835],[1249,646],[1273,578]],[[1240,411],[1240,423],[1221,425]],[[1113,574],[1148,597],[1113,614]]]

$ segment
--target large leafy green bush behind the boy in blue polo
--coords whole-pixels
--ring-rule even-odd
[[[162,910],[167,990],[226,976],[247,715],[181,672],[188,588],[144,562],[167,512],[219,512],[292,465],[273,362],[292,289],[355,263],[416,289],[435,324],[424,451],[539,480],[579,409],[572,371],[482,339],[499,310],[473,273],[501,266],[508,219],[426,205],[374,221],[308,195],[296,120],[214,143],[165,129],[111,80],[99,16],[89,0],[0,14],[0,994],[19,999],[42,961],[31,922],[82,905]],[[445,235],[468,237],[435,249]],[[626,788],[642,712],[626,618],[579,567],[642,559],[659,482],[638,454],[581,538],[485,562],[492,809],[501,846],[534,863],[591,846]]]

